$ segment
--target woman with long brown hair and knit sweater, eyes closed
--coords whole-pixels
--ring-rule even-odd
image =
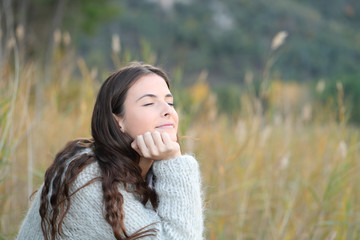
[[[60,151],[18,239],[202,239],[199,167],[181,155],[166,74],[134,63],[94,106],[91,140]]]

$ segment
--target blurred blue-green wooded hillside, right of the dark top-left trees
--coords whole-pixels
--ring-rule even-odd
[[[274,65],[283,78],[308,80],[356,74],[360,59],[358,2],[190,1],[171,10],[148,1],[126,1],[119,16],[123,44],[137,49],[147,39],[159,61],[184,66],[185,76],[203,69],[211,82],[242,80],[246,70],[261,75],[273,36],[286,30],[289,39]],[[136,16],[136,17],[135,17]],[[219,20],[220,19],[220,20]],[[218,76],[221,76],[221,80]]]

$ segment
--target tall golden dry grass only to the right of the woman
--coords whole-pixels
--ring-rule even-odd
[[[282,87],[286,92],[275,98],[294,89]],[[247,97],[243,103],[251,101]],[[282,100],[296,109],[296,101]],[[204,113],[211,112],[213,100],[204,101]],[[271,105],[279,111],[267,116],[254,110],[235,121],[211,114],[194,119],[191,132],[199,140],[192,148],[207,188],[208,239],[358,239],[359,129],[337,123],[330,113],[326,122],[317,121],[326,110],[303,116],[284,111],[280,102]]]

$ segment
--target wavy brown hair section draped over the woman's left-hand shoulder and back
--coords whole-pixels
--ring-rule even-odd
[[[84,151],[91,146],[90,140],[75,140],[69,142],[60,151],[53,164],[45,172],[44,186],[40,196],[41,229],[46,240],[55,239],[56,235],[64,235],[62,223],[65,215],[70,209],[70,197],[93,179],[77,189],[69,192],[71,184],[76,176],[89,164],[95,162],[95,158]],[[50,236],[49,236],[50,235]]]

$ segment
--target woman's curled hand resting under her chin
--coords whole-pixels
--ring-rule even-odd
[[[164,160],[181,155],[180,145],[171,140],[167,132],[146,132],[136,136],[131,147],[141,157],[151,160]]]

